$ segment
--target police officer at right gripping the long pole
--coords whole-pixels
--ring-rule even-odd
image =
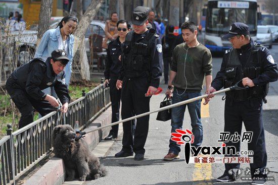
[[[225,51],[220,71],[211,83],[205,104],[216,90],[227,88],[242,80],[248,89],[228,91],[225,96],[224,132],[241,135],[242,122],[247,132],[252,132],[248,150],[253,151],[253,163],[250,163],[252,184],[264,184],[267,154],[265,150],[262,102],[268,91],[268,83],[278,78],[277,65],[268,49],[257,44],[250,37],[249,27],[240,22],[233,23],[223,39],[229,39],[233,47]],[[226,147],[236,147],[240,151],[240,141],[225,143]],[[239,155],[225,155],[237,157]],[[224,174],[217,181],[234,181],[240,174],[239,163],[225,163]]]

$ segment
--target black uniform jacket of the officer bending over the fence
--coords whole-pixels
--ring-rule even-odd
[[[41,58],[35,58],[29,63],[17,68],[12,73],[12,78],[16,83],[26,91],[26,93],[36,100],[44,99],[46,94],[41,90],[54,87],[59,99],[64,104],[69,103],[70,96],[65,84],[64,71],[56,75],[50,64],[50,57],[43,61]]]

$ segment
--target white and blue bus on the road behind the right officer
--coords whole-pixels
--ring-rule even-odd
[[[242,22],[249,26],[250,36],[253,40],[257,34],[257,1],[216,1],[208,0],[206,11],[205,46],[211,52],[224,51],[231,47],[228,39],[221,36],[228,33],[230,25]]]

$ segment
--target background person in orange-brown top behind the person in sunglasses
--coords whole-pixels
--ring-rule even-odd
[[[105,39],[102,42],[102,47],[105,49],[107,49],[111,40],[114,40],[118,37],[117,22],[118,14],[117,12],[112,12],[110,19],[105,22]]]

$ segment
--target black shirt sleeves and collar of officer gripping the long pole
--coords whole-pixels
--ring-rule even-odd
[[[246,66],[246,60],[250,55],[251,48],[254,47],[254,42],[251,39],[251,42],[242,46],[239,53],[239,58],[242,63],[242,67],[244,68]],[[223,87],[223,78],[225,76],[225,69],[228,63],[228,56],[229,56],[229,50],[226,50],[220,71],[217,73],[215,79],[212,81],[211,86],[219,90]],[[259,75],[259,77],[256,77],[252,79],[254,85],[265,85],[269,82],[274,82],[278,78],[278,70],[277,70],[277,64],[275,63],[273,57],[271,56],[270,52],[266,47],[261,48],[261,66],[263,67],[262,73]]]

